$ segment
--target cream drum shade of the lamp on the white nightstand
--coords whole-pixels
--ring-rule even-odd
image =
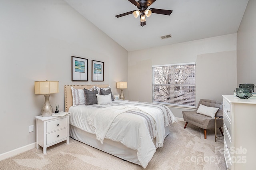
[[[59,93],[58,81],[35,81],[35,94],[52,94]]]

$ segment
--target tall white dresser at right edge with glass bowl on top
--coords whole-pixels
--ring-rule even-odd
[[[223,96],[224,156],[228,170],[255,169],[256,99]]]

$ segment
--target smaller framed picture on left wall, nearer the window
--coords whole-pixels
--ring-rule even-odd
[[[104,62],[92,60],[92,81],[104,81]]]

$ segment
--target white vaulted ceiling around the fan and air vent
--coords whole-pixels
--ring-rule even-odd
[[[128,0],[65,0],[127,51],[233,34],[238,31],[248,0],[156,0],[150,8],[172,10],[170,16],[146,17],[146,26],[132,14]],[[161,39],[170,35],[172,38]]]

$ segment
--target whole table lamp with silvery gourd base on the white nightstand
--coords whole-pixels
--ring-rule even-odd
[[[44,106],[42,107],[42,117],[52,116],[52,106],[49,98],[52,93],[59,93],[58,81],[35,81],[35,94],[44,95]]]

